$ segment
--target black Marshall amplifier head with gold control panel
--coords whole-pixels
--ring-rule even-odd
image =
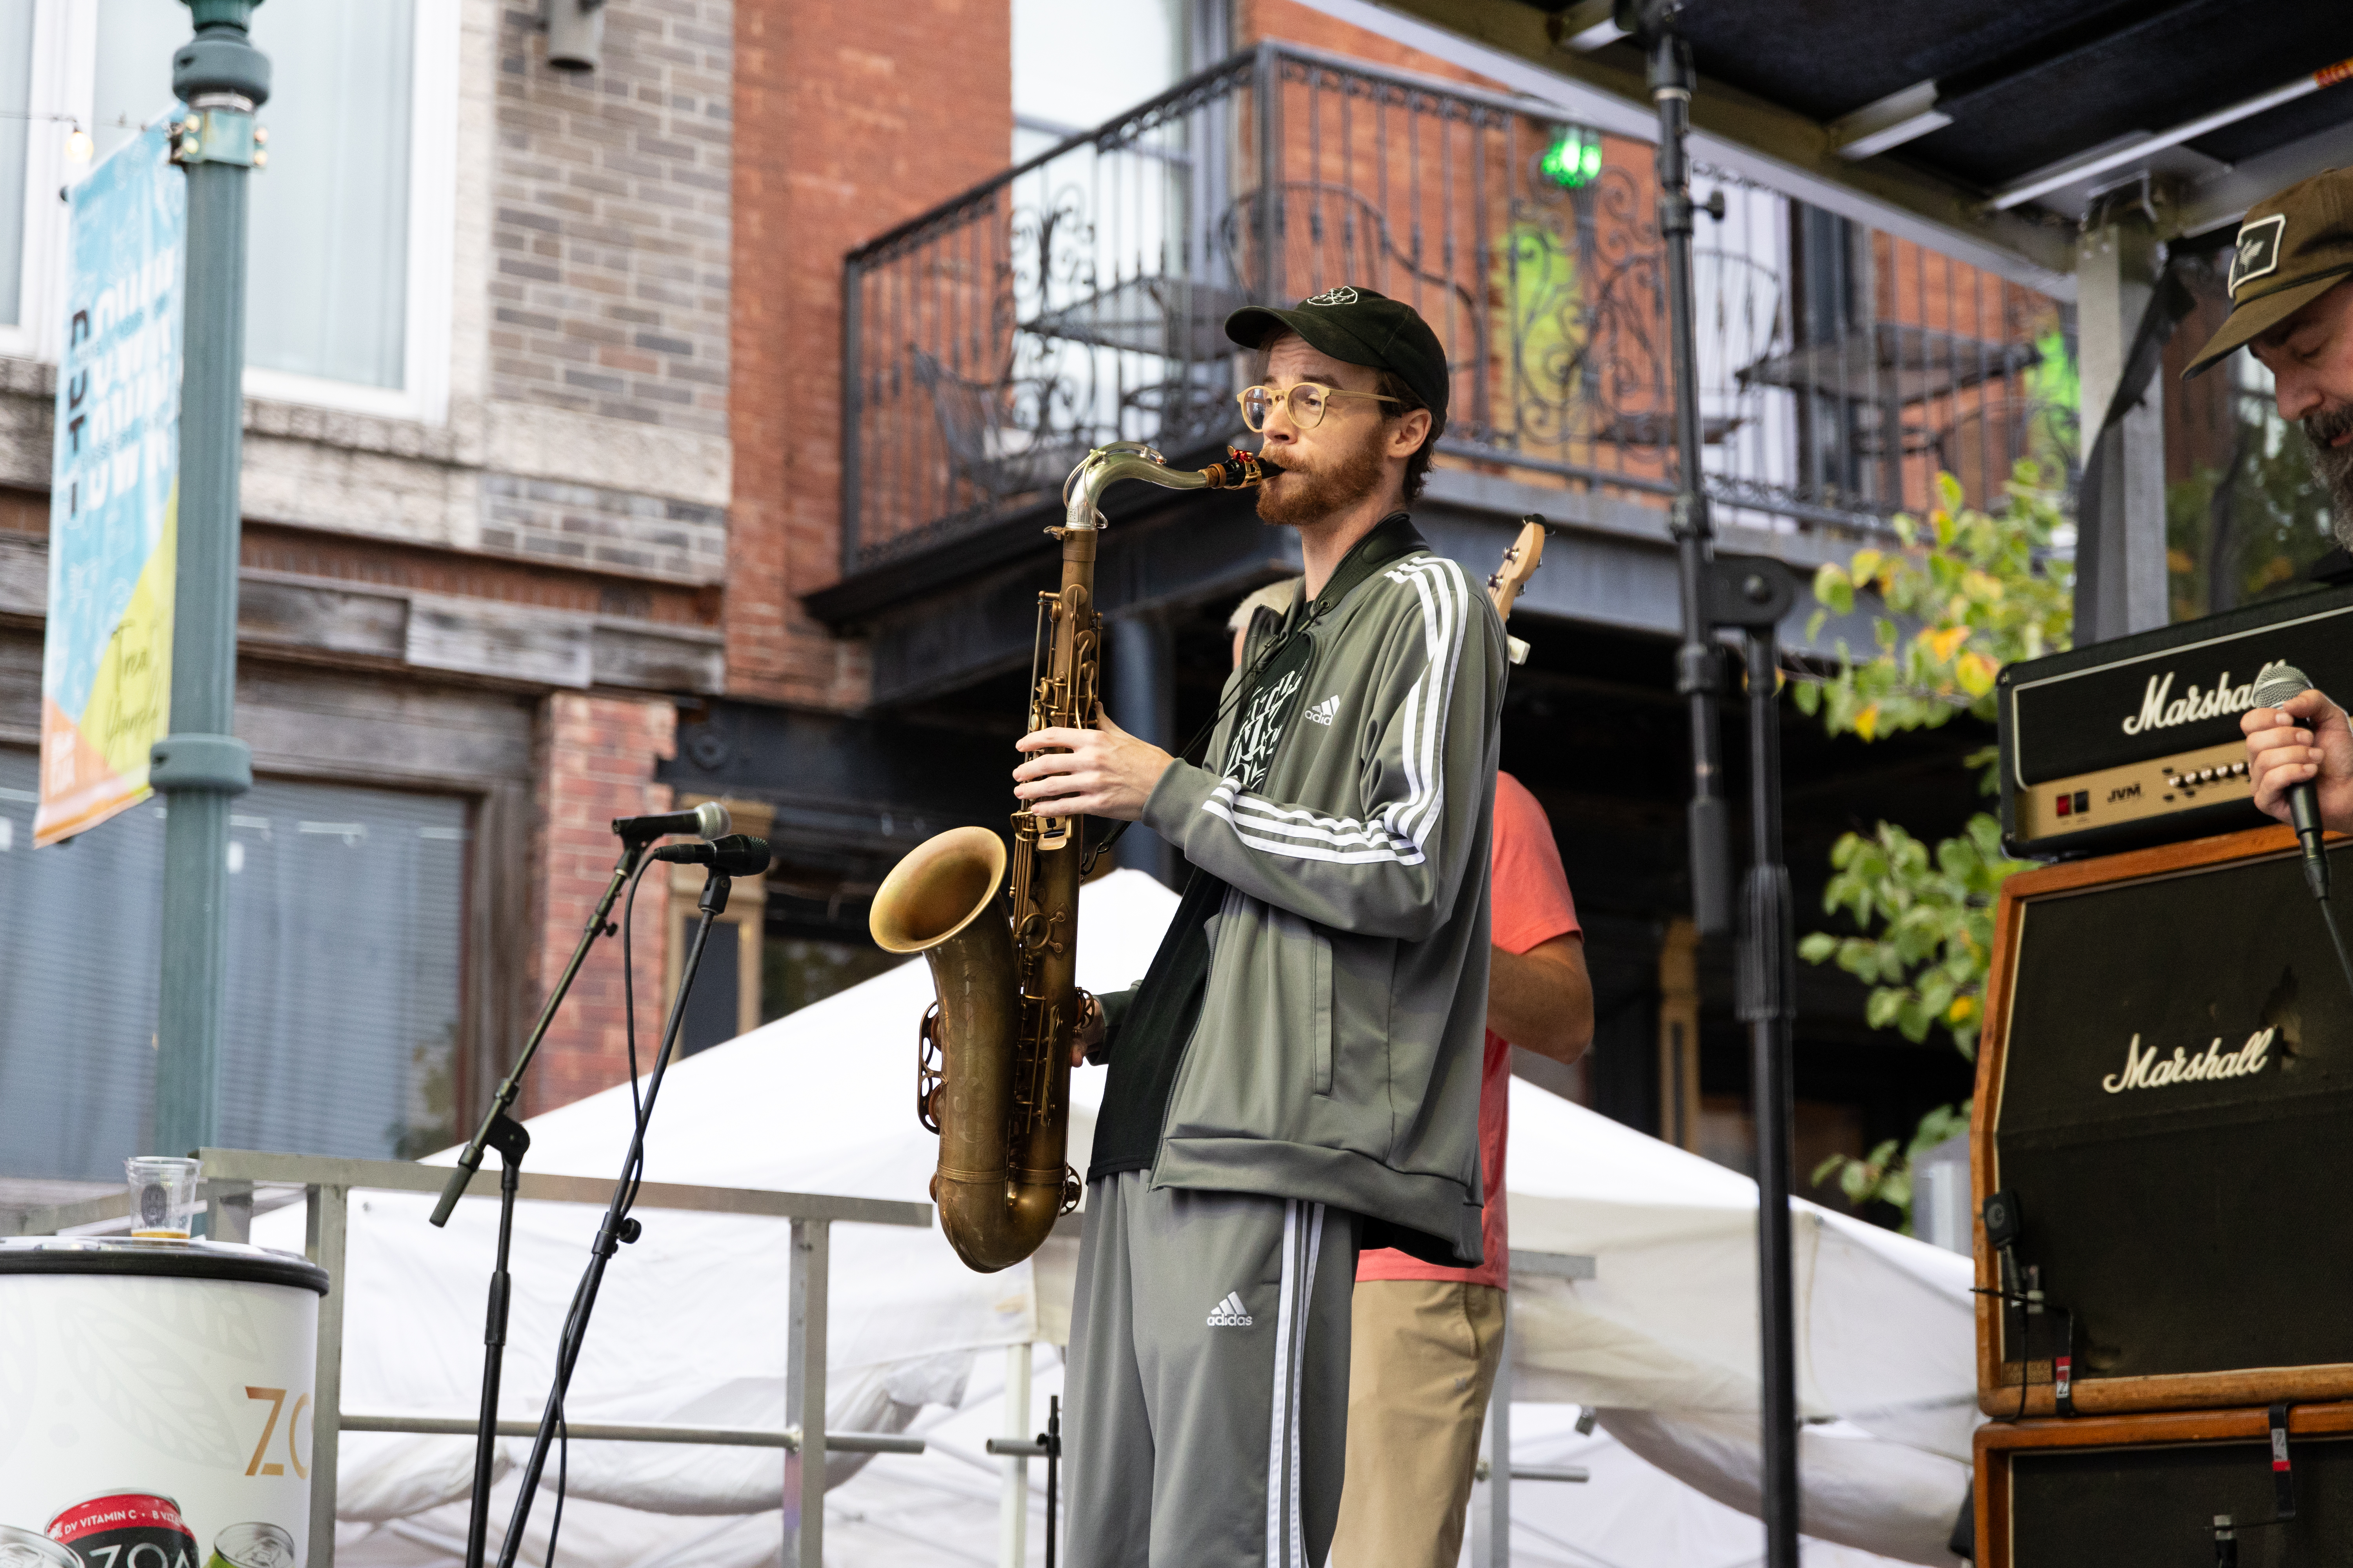
[[[2238,715],[2278,663],[2353,705],[2353,588],[2007,665],[1995,686],[2002,844],[2108,853],[2264,823]]]

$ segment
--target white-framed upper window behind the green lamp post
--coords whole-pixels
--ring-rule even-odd
[[[191,33],[181,0],[0,0],[0,110],[26,115],[0,115],[0,212],[21,214],[0,226],[0,353],[56,350],[59,190],[94,167],[68,158],[68,132],[87,127],[106,158],[169,115]],[[456,0],[261,5],[252,38],[273,82],[256,115],[268,167],[249,181],[245,390],[440,421]]]

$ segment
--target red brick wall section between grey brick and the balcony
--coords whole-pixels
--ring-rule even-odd
[[[1012,7],[736,2],[727,686],[866,696],[800,595],[840,576],[845,252],[1012,160]]]

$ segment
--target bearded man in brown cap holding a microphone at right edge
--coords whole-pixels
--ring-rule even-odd
[[[2337,543],[2353,550],[2353,169],[2329,169],[2247,212],[2231,256],[2231,315],[2198,350],[2195,376],[2247,348],[2278,386],[2280,418],[2304,425],[2329,487]],[[2287,820],[2311,783],[2320,823],[2353,832],[2353,729],[2320,691],[2240,715],[2254,804]]]

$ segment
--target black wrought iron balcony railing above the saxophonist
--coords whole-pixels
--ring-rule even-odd
[[[1875,531],[1939,468],[1972,498],[2068,468],[2059,310],[1701,172],[1708,489],[1767,527]],[[1520,99],[1266,42],[849,254],[842,569],[1052,498],[1108,440],[1242,435],[1224,317],[1334,284],[1449,350],[1440,451],[1673,491],[1652,148]]]

